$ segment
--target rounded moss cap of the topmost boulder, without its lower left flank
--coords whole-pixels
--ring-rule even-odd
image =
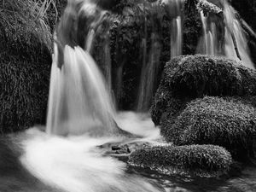
[[[222,57],[187,55],[166,64],[166,84],[184,96],[256,95],[256,71]]]

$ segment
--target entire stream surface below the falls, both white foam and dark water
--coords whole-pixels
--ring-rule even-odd
[[[253,192],[256,166],[219,178],[172,175],[127,166],[112,147],[163,144],[147,114],[123,112],[119,125],[137,137],[50,136],[38,128],[0,140],[1,192]],[[110,152],[110,153],[109,153]]]

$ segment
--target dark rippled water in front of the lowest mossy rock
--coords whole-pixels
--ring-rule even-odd
[[[233,177],[202,178],[167,176],[143,168],[129,167],[129,173],[147,177],[166,192],[255,192],[256,166],[247,166]]]

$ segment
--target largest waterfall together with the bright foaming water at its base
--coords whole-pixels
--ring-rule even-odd
[[[68,2],[68,6],[78,5],[72,1]],[[82,10],[88,3],[85,0],[78,2],[84,3]],[[73,13],[66,14],[68,15],[65,16],[69,16]],[[139,126],[141,132],[138,135],[144,137],[143,139],[156,139],[159,137],[159,131],[154,128],[148,117],[134,118],[133,115],[125,113],[116,117],[102,74],[89,52],[79,45],[64,44],[61,51],[63,55],[60,55],[60,34],[56,32],[50,80],[47,119],[49,134],[35,129],[26,131],[27,138],[22,143],[25,153],[20,159],[22,165],[34,177],[57,191],[160,191],[146,179],[126,173],[125,163],[104,155],[109,149],[99,148],[105,143],[122,143],[124,139],[131,141],[131,138],[114,134],[117,129],[114,119],[120,125],[125,125],[128,131],[133,130],[135,134]],[[90,35],[87,37],[90,38]],[[60,67],[61,56],[63,63]],[[131,125],[127,124],[127,120]],[[148,131],[154,134],[148,134]]]

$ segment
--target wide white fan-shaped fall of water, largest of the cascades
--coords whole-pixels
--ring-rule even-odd
[[[55,135],[111,134],[114,108],[104,79],[87,51],[66,45],[64,65],[52,64],[47,132]]]

